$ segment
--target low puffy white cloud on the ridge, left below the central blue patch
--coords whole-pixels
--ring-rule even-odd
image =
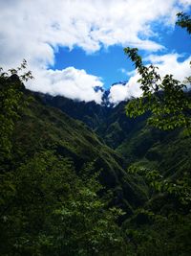
[[[35,70],[34,76],[38,79],[28,84],[31,90],[53,96],[62,95],[79,101],[101,103],[102,92],[96,92],[95,87],[101,87],[103,82],[100,78],[87,74],[83,69],[68,67],[63,70]]]

